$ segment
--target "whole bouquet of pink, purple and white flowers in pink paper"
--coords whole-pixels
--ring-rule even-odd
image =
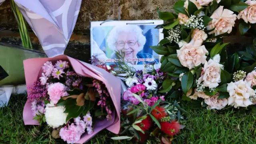
[[[66,55],[24,60],[25,125],[47,124],[52,136],[82,144],[104,128],[120,130],[118,78]]]

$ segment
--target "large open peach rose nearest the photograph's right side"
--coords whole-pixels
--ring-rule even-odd
[[[184,44],[180,50],[177,50],[177,56],[182,66],[189,69],[204,64],[206,62],[206,50],[205,46],[198,46],[192,41],[188,44]]]

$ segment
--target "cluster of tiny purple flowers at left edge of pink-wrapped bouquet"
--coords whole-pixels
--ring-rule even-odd
[[[46,86],[43,86],[40,81],[35,82],[33,87],[28,86],[28,88],[32,89],[30,92],[28,92],[28,98],[30,98],[32,101],[46,98]]]

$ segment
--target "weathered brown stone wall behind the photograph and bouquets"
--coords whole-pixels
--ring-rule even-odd
[[[102,20],[158,19],[157,8],[170,11],[177,0],[82,0],[76,27],[65,54],[83,61],[90,59],[90,22]],[[16,20],[9,0],[0,6],[0,42],[21,45]],[[30,30],[34,49],[42,51]]]

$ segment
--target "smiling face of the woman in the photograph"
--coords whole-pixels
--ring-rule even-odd
[[[116,50],[120,54],[124,52],[124,58],[136,58],[139,44],[133,32],[120,32],[116,40]]]

